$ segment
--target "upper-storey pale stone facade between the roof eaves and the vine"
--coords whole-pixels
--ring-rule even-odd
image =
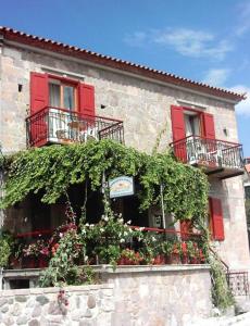
[[[171,105],[192,103],[200,110],[215,115],[215,133],[218,139],[237,141],[234,104],[208,95],[192,93],[190,89],[174,89],[128,76],[122,72],[88,66],[52,54],[40,54],[10,46],[2,48],[2,143],[4,151],[16,151],[26,147],[25,117],[29,113],[30,72],[48,72],[48,68],[68,72],[95,86],[97,114],[124,121],[125,142],[138,150],[151,152],[159,133],[165,129],[160,149],[172,142]],[[18,84],[22,91],[18,92]],[[101,104],[105,109],[101,109]],[[228,136],[223,129],[227,128]]]

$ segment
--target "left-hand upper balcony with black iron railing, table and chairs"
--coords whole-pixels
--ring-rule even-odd
[[[122,121],[51,106],[28,116],[26,130],[28,147],[86,142],[88,139],[124,142]]]

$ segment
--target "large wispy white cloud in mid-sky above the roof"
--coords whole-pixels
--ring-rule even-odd
[[[216,40],[211,33],[193,29],[167,29],[158,33],[157,43],[172,47],[183,55],[223,60],[233,50],[226,40]]]

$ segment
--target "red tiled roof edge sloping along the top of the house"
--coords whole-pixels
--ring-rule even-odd
[[[154,68],[150,68],[148,66],[132,63],[121,59],[115,59],[109,55],[103,55],[86,49],[79,49],[74,46],[64,45],[62,42],[57,42],[51,39],[46,39],[42,37],[29,35],[23,32],[14,30],[12,28],[0,26],[0,34],[2,34],[3,38],[7,40],[16,41],[35,48],[49,50],[64,55],[87,60],[92,63],[109,66],[112,68],[117,68],[121,71],[129,72],[136,75],[141,75],[145,77],[153,78],[155,80],[161,80],[163,83],[168,83],[176,86],[189,88],[211,96],[222,97],[225,99],[233,100],[235,102],[239,102],[246,99],[245,93],[236,93],[223,88],[209,86],[207,84],[183,78],[174,74],[158,71]]]

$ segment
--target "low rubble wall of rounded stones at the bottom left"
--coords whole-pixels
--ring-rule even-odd
[[[58,303],[59,288],[7,290],[0,294],[0,325],[111,325],[113,286],[65,288],[68,305]]]

